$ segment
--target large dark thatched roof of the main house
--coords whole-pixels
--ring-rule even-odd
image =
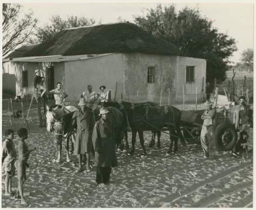
[[[104,53],[179,55],[179,50],[131,23],[65,29],[24,56]]]

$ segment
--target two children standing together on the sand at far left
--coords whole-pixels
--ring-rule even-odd
[[[15,169],[18,174],[18,186],[14,198],[21,199],[21,204],[28,205],[24,198],[23,184],[27,180],[26,168],[29,154],[36,148],[29,150],[25,140],[28,138],[28,130],[21,128],[17,131],[18,140],[18,157],[13,143],[14,131],[7,129],[5,131],[5,141],[2,146],[2,169],[5,176],[5,195],[11,196],[12,192],[12,177],[15,175]]]

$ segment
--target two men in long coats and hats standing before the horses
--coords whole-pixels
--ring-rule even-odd
[[[97,184],[106,184],[110,181],[111,167],[117,166],[115,152],[115,141],[113,126],[109,121],[109,111],[101,108],[99,115],[101,118],[95,122],[94,114],[90,108],[90,103],[86,103],[81,98],[79,110],[73,114],[73,119],[77,124],[74,154],[78,158],[78,170],[82,172],[82,157],[86,160],[86,171],[91,171],[90,154],[94,154],[94,165],[97,166]]]

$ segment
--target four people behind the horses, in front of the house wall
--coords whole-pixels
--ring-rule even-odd
[[[45,77],[41,76],[41,72],[39,70],[35,70],[35,77],[34,77],[34,88],[36,93],[40,91],[41,97],[44,97],[46,94],[46,88],[43,86],[45,81]],[[50,94],[53,94],[55,104],[59,104],[61,106],[65,106],[65,98],[68,97],[68,94],[65,90],[61,89],[61,82],[57,82],[57,88],[54,90],[49,91]],[[81,94],[81,98],[84,98],[87,103],[93,104],[97,99],[101,102],[109,100],[109,92],[106,91],[105,86],[100,86],[100,91],[96,93],[92,90],[92,86],[87,86],[87,91],[84,91]]]

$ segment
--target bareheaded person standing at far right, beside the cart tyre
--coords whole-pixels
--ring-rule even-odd
[[[247,128],[249,122],[249,106],[245,103],[245,97],[244,96],[240,96],[239,97],[239,102],[240,104],[237,106],[234,106],[231,109],[231,112],[235,113],[235,124],[234,127],[236,128],[237,131],[243,131]],[[239,155],[236,153],[236,145],[234,145],[231,153],[233,156],[238,157]]]

